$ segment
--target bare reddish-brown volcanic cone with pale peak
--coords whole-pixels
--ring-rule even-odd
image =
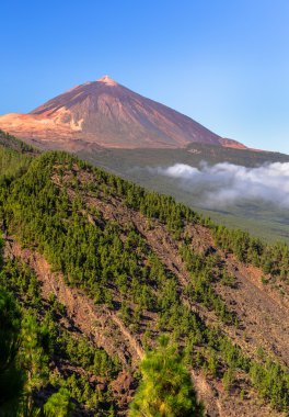
[[[105,76],[49,100],[30,114],[0,116],[0,128],[48,148],[177,148],[189,143],[245,148]]]

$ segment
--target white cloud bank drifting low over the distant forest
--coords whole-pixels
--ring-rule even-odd
[[[246,168],[229,162],[199,168],[175,164],[167,168],[149,168],[180,181],[180,187],[198,195],[199,203],[207,207],[226,207],[245,200],[262,200],[289,208],[289,162],[266,164]]]

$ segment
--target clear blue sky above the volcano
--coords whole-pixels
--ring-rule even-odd
[[[219,135],[289,154],[288,0],[1,0],[0,114],[108,74]]]

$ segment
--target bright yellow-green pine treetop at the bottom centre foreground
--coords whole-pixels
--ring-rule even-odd
[[[189,372],[175,346],[161,338],[157,350],[140,364],[142,382],[130,405],[129,417],[201,417]]]

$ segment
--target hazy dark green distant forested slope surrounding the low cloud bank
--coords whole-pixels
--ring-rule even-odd
[[[216,146],[194,144],[188,149],[113,149],[103,153],[79,153],[90,162],[108,169],[125,179],[135,181],[148,189],[171,194],[177,201],[203,212],[213,221],[229,227],[241,227],[269,241],[282,239],[289,243],[288,211],[264,204],[234,205],[224,211],[201,207],[197,198],[178,187],[177,181],[155,173],[146,167],[171,166],[176,162],[198,166],[201,160],[209,164],[228,161],[246,167],[255,167],[268,161],[289,161],[289,156],[278,153],[259,153],[239,149],[223,149]],[[134,169],[137,168],[137,169]]]

